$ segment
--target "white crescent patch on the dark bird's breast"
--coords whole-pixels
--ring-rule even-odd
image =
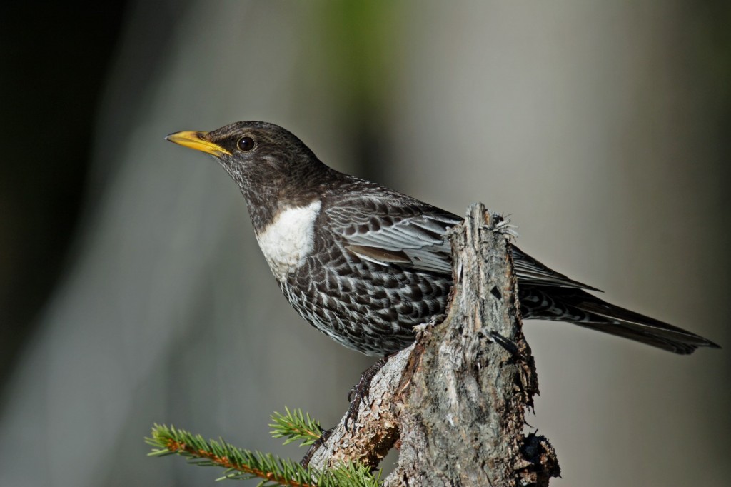
[[[312,252],[314,223],[322,203],[282,211],[257,234],[257,241],[274,276],[285,279]]]

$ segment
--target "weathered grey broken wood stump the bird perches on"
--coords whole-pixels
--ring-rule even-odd
[[[450,232],[455,287],[439,323],[421,327],[379,371],[358,412],[311,459],[374,467],[390,448],[385,486],[548,486],[559,475],[545,437],[523,434],[538,382],[520,322],[509,232],[472,205]]]

